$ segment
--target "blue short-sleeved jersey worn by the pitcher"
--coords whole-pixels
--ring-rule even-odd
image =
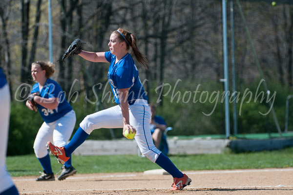
[[[120,104],[118,89],[129,88],[127,101],[132,105],[137,99],[147,100],[144,86],[142,85],[138,70],[129,53],[115,64],[116,56],[110,51],[105,52],[105,58],[110,63],[108,70],[108,81],[112,88],[115,102]]]

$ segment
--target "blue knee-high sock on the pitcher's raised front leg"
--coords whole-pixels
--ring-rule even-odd
[[[81,127],[77,129],[77,131],[74,133],[72,139],[70,142],[65,146],[65,155],[68,157],[72,154],[75,149],[77,149],[84,141],[86,138],[89,136]]]

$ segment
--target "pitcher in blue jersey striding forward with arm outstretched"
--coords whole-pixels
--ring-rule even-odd
[[[91,62],[110,63],[107,77],[118,105],[87,115],[65,147],[57,147],[48,142],[48,149],[63,164],[93,130],[123,128],[124,136],[125,130],[136,132],[134,138],[142,154],[173,176],[171,190],[182,190],[190,184],[191,179],[180,172],[170,159],[153,144],[149,127],[151,112],[146,92],[139,79],[138,69],[128,53],[131,47],[137,61],[145,68],[147,67],[145,56],[137,48],[136,36],[119,28],[111,33],[108,46],[110,51],[107,52],[96,53],[81,50],[78,55]],[[66,53],[69,52],[66,51]],[[55,152],[57,150],[61,152]]]

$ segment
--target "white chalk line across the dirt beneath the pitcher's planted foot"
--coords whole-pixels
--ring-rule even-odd
[[[246,188],[293,188],[293,186],[230,186],[230,187],[185,187],[185,189],[246,189]],[[111,190],[164,190],[170,188],[120,188],[120,189],[85,189],[85,190],[52,190],[52,191],[31,191],[31,192],[20,192],[19,194],[25,193],[42,193],[42,192],[85,192],[85,191],[111,191]],[[265,190],[265,189],[264,189]]]

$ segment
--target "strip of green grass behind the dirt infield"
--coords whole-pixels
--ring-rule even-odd
[[[225,170],[225,169],[262,169],[293,167],[293,148],[278,151],[198,155],[170,155],[171,161],[180,170]],[[34,154],[8,156],[7,170],[11,176],[39,175],[42,171]],[[54,173],[61,170],[61,164],[51,155]],[[76,156],[72,157],[72,165],[77,173],[115,173],[144,172],[159,169],[157,164],[137,155],[111,156]]]

